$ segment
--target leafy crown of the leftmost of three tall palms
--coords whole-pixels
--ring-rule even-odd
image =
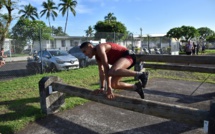
[[[33,7],[31,4],[25,5],[24,9],[19,10],[18,14],[22,13],[22,18],[36,20],[39,19],[37,8]],[[36,18],[35,18],[36,17]]]

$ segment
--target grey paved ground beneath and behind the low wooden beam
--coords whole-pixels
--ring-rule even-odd
[[[145,97],[149,100],[209,110],[215,97],[214,84],[169,79],[151,79]],[[135,92],[120,94],[139,97]],[[168,114],[168,113],[167,113]],[[203,128],[89,102],[49,115],[29,124],[17,134],[203,134]]]

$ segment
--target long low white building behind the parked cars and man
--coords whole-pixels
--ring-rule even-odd
[[[84,41],[90,41],[94,44],[106,42],[105,39],[93,40],[93,37],[84,36],[53,36],[52,40],[42,40],[41,45],[39,41],[34,41],[33,50],[41,49],[61,49],[70,50],[74,46],[79,46]],[[163,53],[171,55],[179,55],[179,42],[175,39],[165,37],[165,34],[148,34],[140,36],[133,36],[130,39],[119,40],[116,43],[125,46],[131,50],[138,49],[140,52],[147,48],[149,51],[154,51],[158,48]],[[153,53],[152,53],[153,54]]]

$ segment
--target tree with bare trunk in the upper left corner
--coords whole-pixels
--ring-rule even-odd
[[[0,16],[0,47],[4,46],[4,40],[6,38],[6,35],[8,34],[8,29],[10,27],[10,24],[13,20],[12,17],[12,11],[14,10],[14,7],[16,6],[17,1],[12,0],[1,0],[0,1],[0,9],[3,7],[6,8],[7,14],[4,14]]]

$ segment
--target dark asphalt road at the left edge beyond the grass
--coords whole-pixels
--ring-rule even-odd
[[[0,68],[0,81],[29,75],[26,70],[27,61],[6,62]]]

